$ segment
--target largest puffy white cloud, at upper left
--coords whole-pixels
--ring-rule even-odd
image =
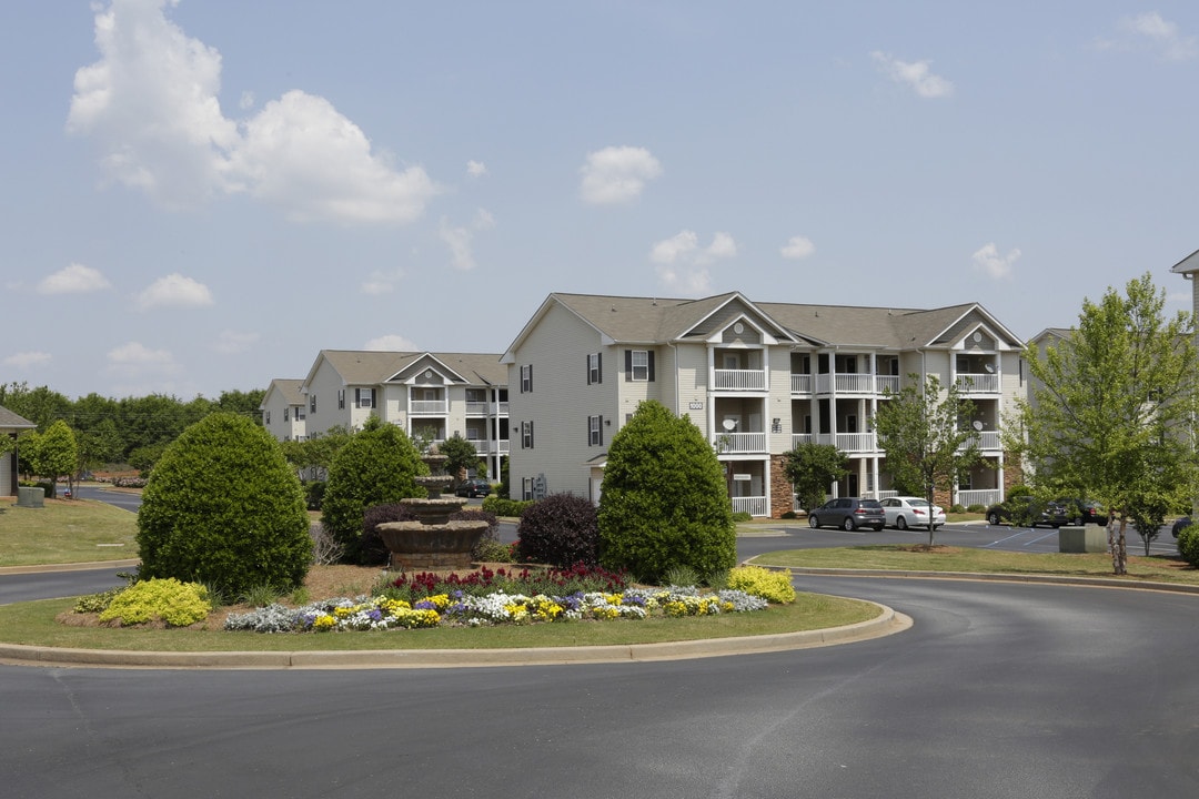
[[[110,177],[169,207],[245,192],[297,222],[403,224],[440,192],[321,97],[290,91],[240,125],[225,117],[221,54],[168,20],[168,5],[98,11],[101,57],[76,73],[67,129],[96,143]],[[242,95],[242,109],[253,101]]]

